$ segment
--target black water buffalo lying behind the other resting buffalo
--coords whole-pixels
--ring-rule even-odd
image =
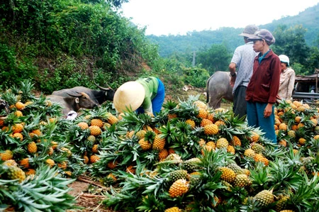
[[[113,101],[113,97],[115,94],[115,90],[109,88],[103,88],[100,87],[99,85],[96,85],[99,87],[101,90],[94,90],[94,89],[89,89],[86,87],[74,87],[72,89],[62,89],[59,91],[53,91],[52,95],[56,96],[69,96],[68,93],[74,93],[74,92],[84,92],[90,96],[90,98],[95,101],[97,104],[103,104],[103,102],[109,100]]]

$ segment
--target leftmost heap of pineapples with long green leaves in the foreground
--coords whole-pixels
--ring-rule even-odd
[[[84,163],[72,153],[61,107],[35,97],[32,89],[22,82],[1,92],[9,113],[0,119],[0,205],[9,211],[65,211],[75,203],[67,194],[75,179],[67,177],[83,173]]]

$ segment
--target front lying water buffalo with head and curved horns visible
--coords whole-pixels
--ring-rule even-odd
[[[77,94],[69,94],[68,96],[49,95],[47,99],[52,102],[59,103],[62,106],[62,113],[67,116],[69,111],[79,111],[80,108],[91,109],[99,106],[95,101],[90,99],[89,95],[84,92]]]

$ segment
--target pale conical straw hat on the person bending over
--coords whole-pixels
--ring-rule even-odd
[[[114,94],[113,104],[116,111],[122,113],[128,109],[135,111],[142,105],[145,89],[142,84],[130,81],[122,84]]]

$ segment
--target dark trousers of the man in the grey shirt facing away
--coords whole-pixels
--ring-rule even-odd
[[[239,118],[247,114],[246,89],[247,87],[245,86],[239,86],[234,93],[233,112]]]

